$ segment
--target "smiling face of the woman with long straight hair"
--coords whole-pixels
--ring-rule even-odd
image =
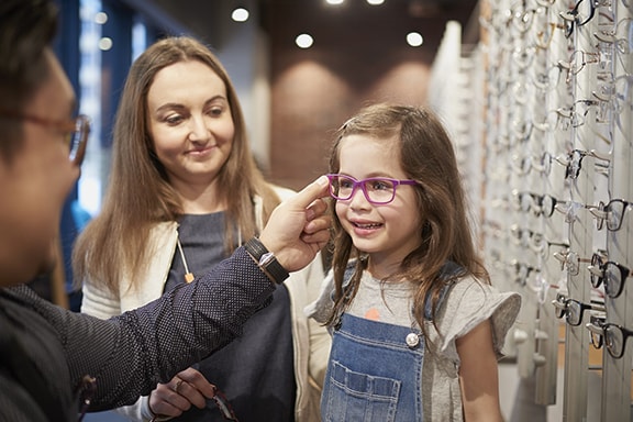
[[[177,189],[209,185],[226,163],[235,126],[220,77],[200,62],[180,62],[156,74],[147,92],[154,148]]]

